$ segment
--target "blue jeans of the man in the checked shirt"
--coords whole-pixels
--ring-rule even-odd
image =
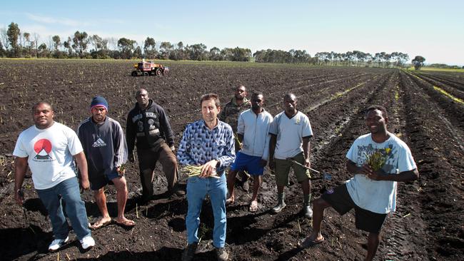
[[[226,244],[226,175],[221,178],[188,178],[186,217],[188,244],[198,242],[198,226],[203,200],[209,195],[214,215],[213,245],[224,247]]]

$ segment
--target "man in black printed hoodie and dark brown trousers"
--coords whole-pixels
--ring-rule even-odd
[[[137,145],[142,200],[147,201],[153,196],[153,177],[158,160],[168,181],[168,195],[184,195],[176,185],[178,168],[173,153],[174,135],[168,116],[161,106],[148,97],[146,89],[140,88],[137,91],[136,100],[136,106],[127,116],[126,137],[131,162],[135,161],[133,148]]]

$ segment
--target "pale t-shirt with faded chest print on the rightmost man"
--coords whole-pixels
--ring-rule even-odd
[[[417,168],[408,145],[393,133],[389,134],[390,138],[383,143],[375,143],[370,133],[360,136],[351,145],[346,158],[360,167],[366,162],[367,155],[372,155],[378,150],[387,153],[387,160],[382,168],[385,173],[398,174]],[[395,181],[371,180],[366,175],[356,174],[346,181],[346,187],[351,199],[359,208],[379,214],[395,211],[397,187]]]

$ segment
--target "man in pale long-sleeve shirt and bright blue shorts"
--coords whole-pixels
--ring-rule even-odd
[[[261,186],[264,167],[269,158],[269,127],[272,123],[271,113],[263,108],[263,93],[255,92],[251,96],[251,109],[243,111],[238,117],[237,136],[241,142],[241,150],[237,153],[235,162],[228,173],[227,185],[229,198],[227,202],[233,203],[235,198],[233,186],[238,171],[246,170],[253,175],[253,197],[251,198],[251,212],[258,210],[258,190]]]

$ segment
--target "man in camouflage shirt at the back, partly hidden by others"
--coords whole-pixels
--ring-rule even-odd
[[[237,136],[237,126],[238,126],[238,116],[243,111],[251,108],[250,101],[246,98],[248,92],[246,91],[245,86],[239,85],[235,88],[235,93],[231,101],[226,103],[226,106],[221,109],[221,114],[219,114],[219,121],[223,121],[230,125],[233,130],[233,134]],[[240,145],[236,142],[235,145],[236,151],[241,150]],[[243,171],[238,172],[238,178],[240,178],[241,186],[243,190],[248,191],[248,175]]]

